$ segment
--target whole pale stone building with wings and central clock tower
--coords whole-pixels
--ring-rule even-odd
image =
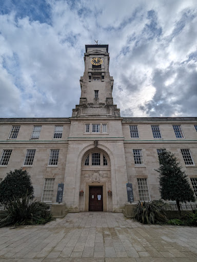
[[[86,45],[80,103],[70,118],[0,119],[0,179],[22,168],[37,200],[55,204],[58,184],[70,212],[122,212],[160,198],[160,148],[180,160],[197,196],[197,118],[123,118],[113,104],[108,45]]]

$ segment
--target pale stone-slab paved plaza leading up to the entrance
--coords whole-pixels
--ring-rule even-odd
[[[0,229],[0,262],[197,261],[197,228],[142,225],[122,213],[69,213]]]

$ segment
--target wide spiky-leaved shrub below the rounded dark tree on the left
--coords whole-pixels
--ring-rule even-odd
[[[0,213],[0,228],[22,224],[42,224],[51,220],[49,206],[45,203],[32,201],[31,196],[17,198],[9,202],[7,210]]]

